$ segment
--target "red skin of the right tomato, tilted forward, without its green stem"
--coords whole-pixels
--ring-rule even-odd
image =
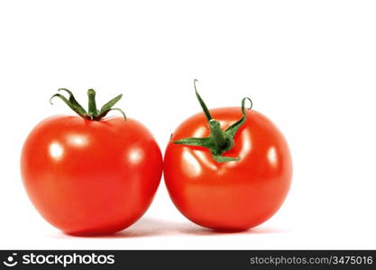
[[[242,117],[240,108],[210,110],[225,130]],[[164,157],[164,179],[176,207],[189,220],[210,229],[255,227],[279,210],[289,192],[292,162],[280,130],[260,112],[247,110],[247,120],[224,156],[239,161],[217,163],[207,148],[172,141],[207,137],[204,113],[182,122]]]

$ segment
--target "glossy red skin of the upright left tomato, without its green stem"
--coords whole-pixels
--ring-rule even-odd
[[[21,171],[32,203],[50,224],[73,235],[109,234],[148,209],[162,157],[138,121],[53,116],[26,139]]]

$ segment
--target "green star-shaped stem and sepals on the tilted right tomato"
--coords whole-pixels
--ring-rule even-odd
[[[249,110],[251,110],[252,100],[248,97],[244,97],[242,100],[243,117],[239,121],[236,121],[228,129],[222,130],[221,124],[219,123],[219,121],[216,121],[215,119],[213,119],[209,110],[207,110],[206,104],[202,100],[201,96],[198,94],[196,83],[197,83],[197,80],[195,79],[194,86],[195,86],[197,100],[200,103],[201,108],[206,115],[206,119],[209,124],[210,135],[209,137],[206,137],[206,138],[178,139],[178,140],[174,140],[173,143],[208,148],[213,158],[216,160],[216,162],[229,162],[229,161],[240,160],[240,157],[224,157],[222,155],[226,151],[234,148],[234,137],[236,135],[236,132],[242,127],[243,123],[246,121],[246,118],[247,118],[246,113],[245,113],[245,101],[249,100],[251,102],[251,106],[248,108]]]

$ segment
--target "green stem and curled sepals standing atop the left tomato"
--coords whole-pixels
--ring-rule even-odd
[[[76,100],[72,92],[70,92],[66,88],[60,88],[58,91],[65,91],[69,94],[69,98],[67,99],[62,94],[54,94],[50,97],[50,103],[52,104],[52,99],[54,97],[59,97],[64,103],[66,103],[70,109],[72,109],[74,112],[76,112],[79,116],[87,119],[87,120],[93,120],[93,121],[100,121],[102,118],[107,115],[110,111],[118,111],[121,112],[124,116],[124,121],[126,121],[125,113],[122,111],[122,109],[119,108],[113,108],[115,103],[117,103],[123,96],[123,94],[119,94],[115,96],[112,100],[110,100],[108,103],[105,103],[100,110],[96,109],[96,91],[94,89],[88,89],[87,90],[87,96],[88,96],[88,111],[86,111]]]

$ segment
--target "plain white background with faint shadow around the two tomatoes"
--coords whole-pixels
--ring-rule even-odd
[[[375,1],[2,1],[0,248],[375,248]],[[149,211],[104,238],[42,220],[20,177],[23,140],[59,87],[119,104],[164,148],[200,108],[253,108],[283,131],[294,161],[280,211],[243,233],[186,220],[163,182]]]

